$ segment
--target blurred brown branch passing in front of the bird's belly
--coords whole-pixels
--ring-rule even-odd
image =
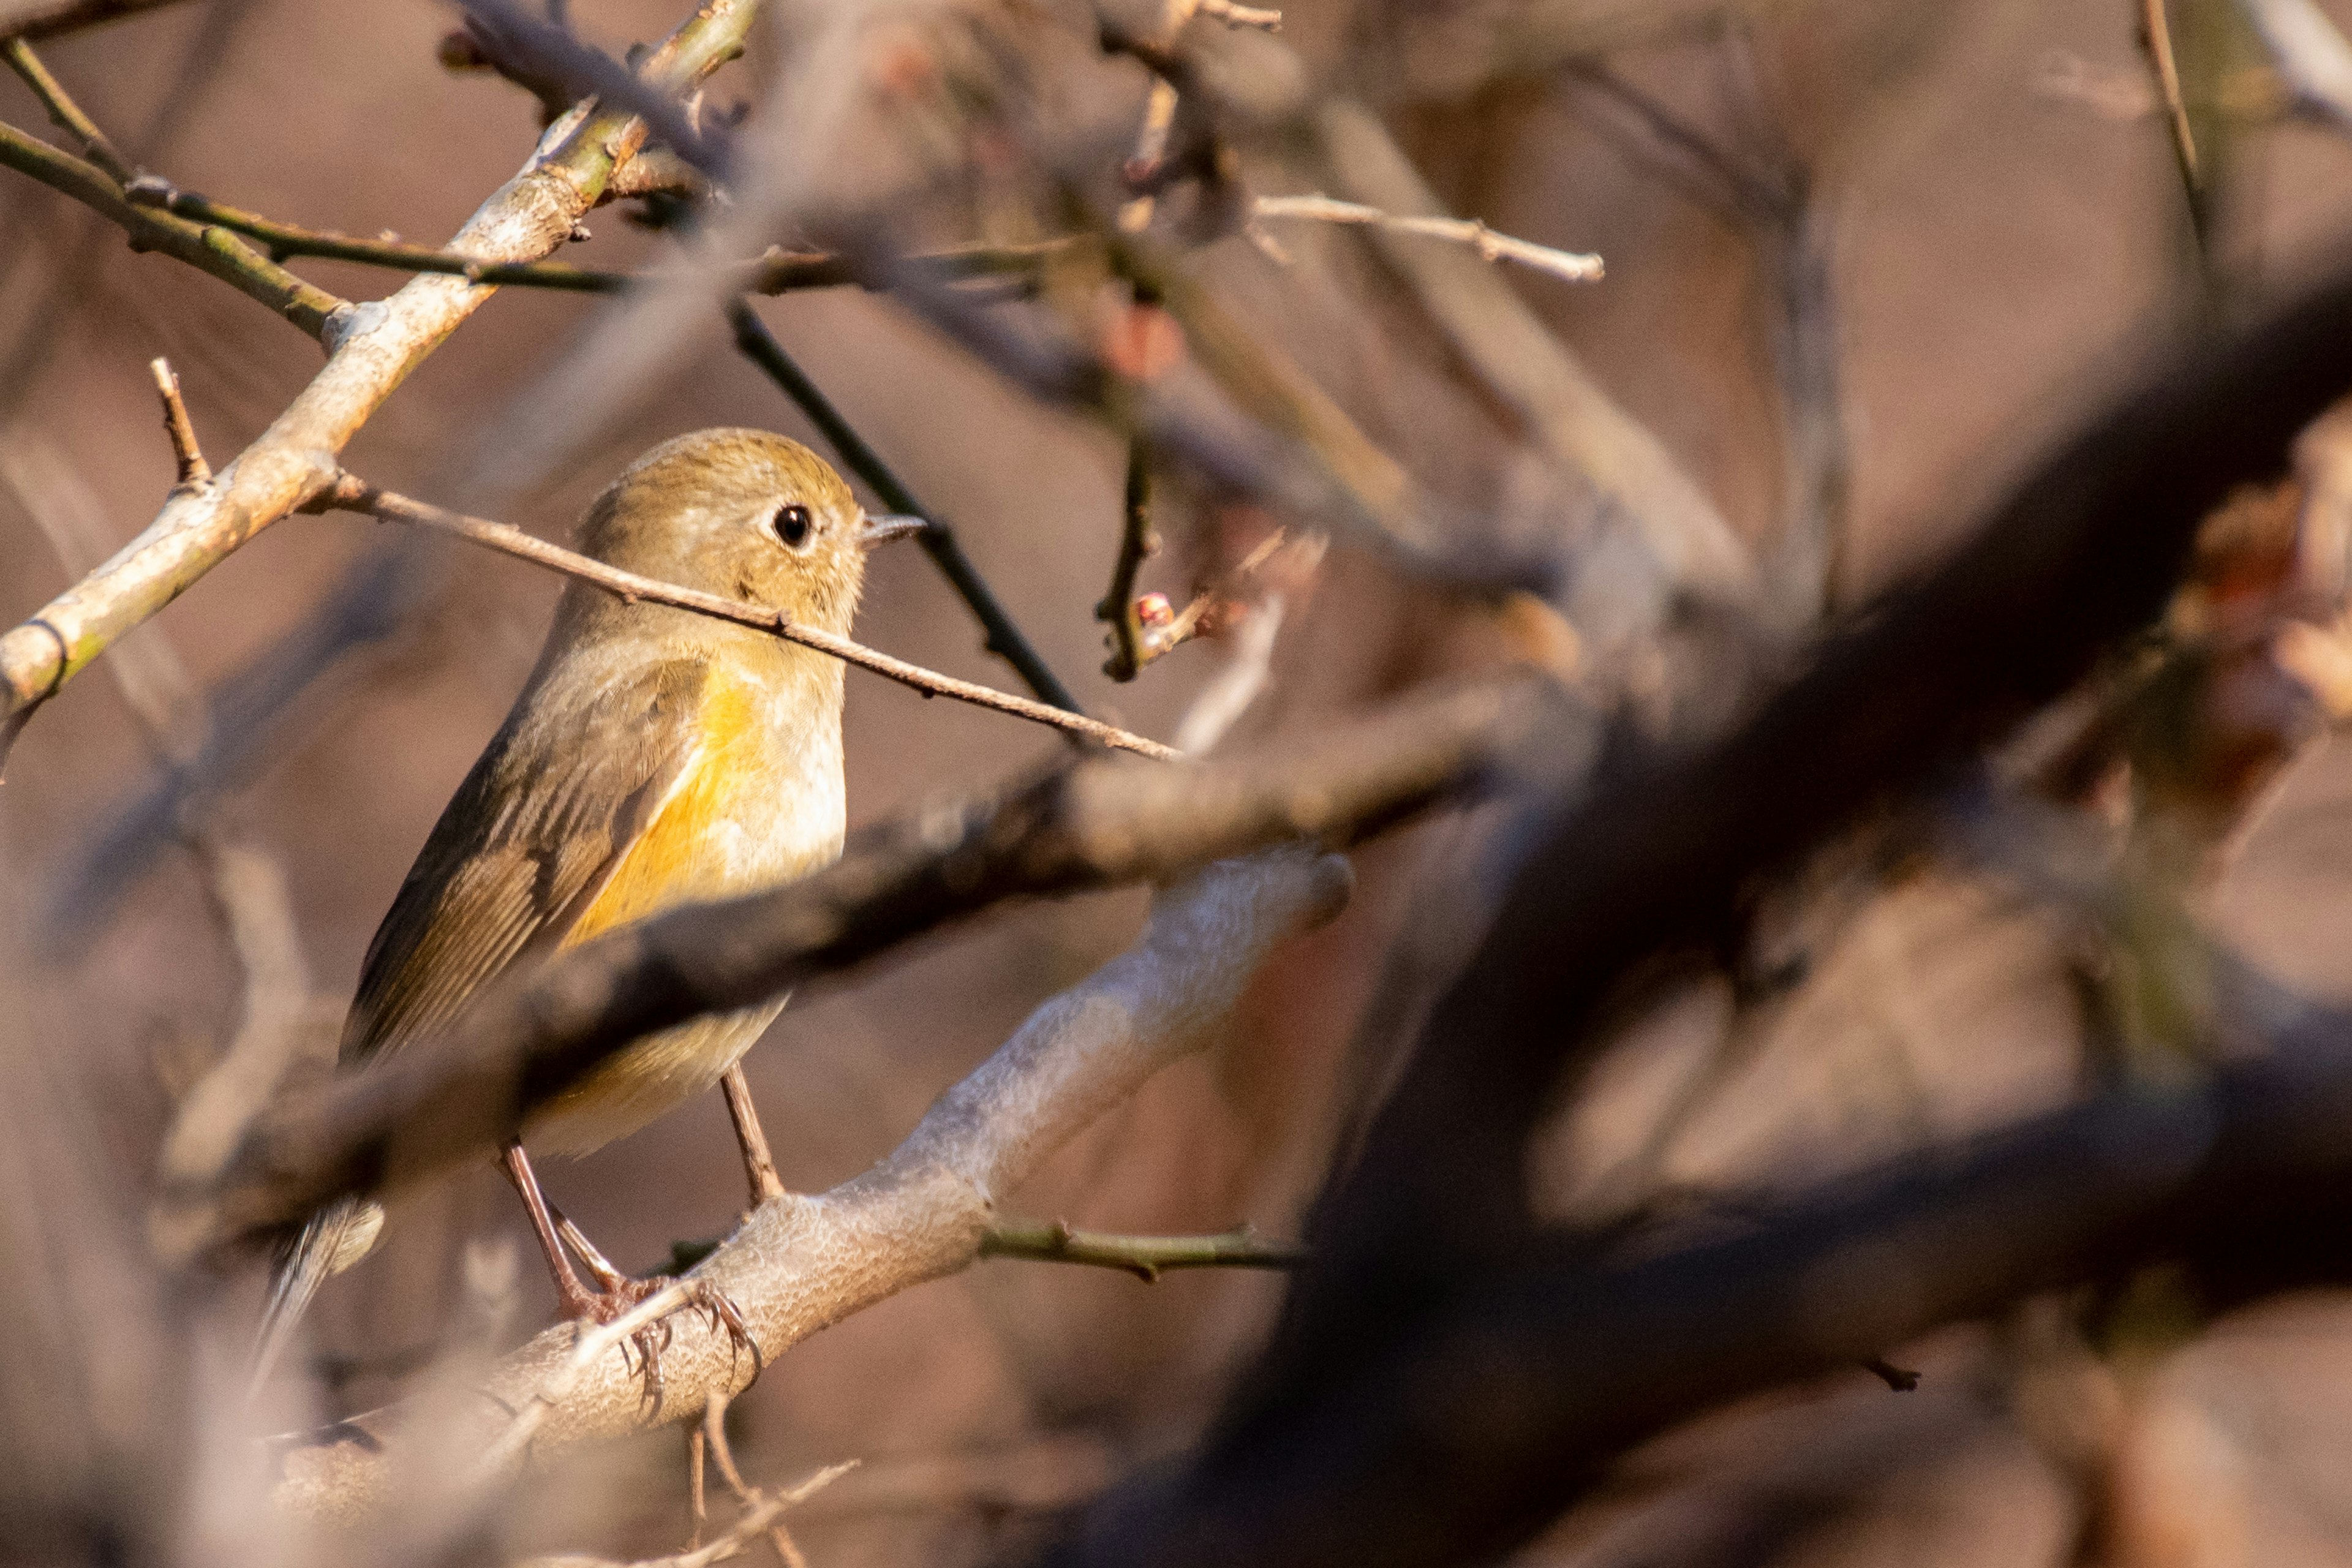
[[[694,905],[492,987],[452,1032],[278,1107],[216,1187],[162,1197],[176,1255],[301,1220],[343,1192],[485,1157],[633,1039],[804,987],[1007,898],[1183,875],[1263,844],[1348,844],[1461,795],[1541,724],[1588,719],[1531,679],[1399,701],[1230,762],[1103,759],[1004,797],[938,802],[790,886]]]

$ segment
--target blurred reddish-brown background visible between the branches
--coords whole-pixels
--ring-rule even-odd
[[[576,26],[614,49],[675,21],[661,0],[581,0]],[[1312,61],[1404,26],[1421,7],[1301,0],[1284,35]],[[2023,461],[2105,369],[2199,287],[2180,179],[2150,113],[2138,7],[2030,0],[1816,0],[1752,7],[1764,129],[1785,129],[1828,214],[1835,343],[1851,435],[1839,597],[1863,597],[1933,550],[1969,503]],[[2331,7],[2352,21],[2345,7]],[[449,14],[423,2],[179,7],[47,52],[85,106],[176,183],[318,228],[447,235],[524,158],[534,106],[510,85],[435,63]],[[1778,158],[1736,108],[1726,45],[1670,33],[1611,66],[1740,155]],[[755,49],[739,71],[764,71]],[[755,80],[755,78],[743,78]],[[734,75],[720,96],[750,92]],[[2138,96],[2133,96],[2138,94]],[[16,82],[0,118],[38,125]],[[1421,101],[1395,120],[1456,212],[1498,230],[1595,249],[1599,284],[1515,273],[1519,294],[1717,498],[1743,536],[1780,515],[1771,383],[1771,254],[1677,195],[1569,71]],[[2251,122],[2230,141],[2216,270],[2239,296],[2288,277],[2352,221],[2352,148],[2326,129]],[[659,240],[619,214],[569,259],[626,266]],[[1324,266],[1395,289],[1355,235],[1284,230]],[[296,263],[374,296],[393,277]],[[1352,331],[1345,301],[1225,240],[1202,259],[1247,320],[1284,343],[1395,456],[1463,510],[1545,527],[1508,421],[1428,334]],[[318,362],[282,324],[9,176],[0,181],[0,442],[49,475],[0,487],[0,616],[14,623],[71,581],[28,515],[78,505],[120,543],[172,480],[146,360],[169,355],[221,461],[252,440]],[[405,386],[353,444],[369,480],[466,505],[480,433],[609,306],[508,289]],[[1225,646],[1188,646],[1136,684],[1103,679],[1103,592],[1117,541],[1122,449],[1049,411],[887,301],[811,292],[764,301],[776,334],[913,489],[955,520],[1047,661],[1087,708],[1167,736]],[[619,428],[501,515],[562,538],[635,451],[701,425],[753,423],[814,440],[724,341],[640,388]],[[64,475],[59,477],[59,465]],[[64,487],[59,491],[56,487]],[[1164,522],[1174,550],[1145,585],[1183,597],[1211,520]],[[268,649],[376,536],[353,517],[294,517],[200,583],[134,639],[169,644],[198,684]],[[437,541],[402,541],[421,555]],[[299,912],[327,1013],[440,804],[515,693],[553,583],[470,555],[433,578],[412,628],[369,656],[320,712],[289,724],[268,766],[219,809],[266,849]],[[993,684],[962,607],[917,555],[882,559],[858,635]],[[1282,630],[1275,679],[1247,729],[1279,729],[1416,677],[1491,656],[1479,616],[1341,548]],[[1007,778],[1056,743],[953,703],[851,675],[851,827],[927,795]],[[0,856],[24,929],[7,999],[42,1051],[71,1063],[92,1126],[136,1194],[169,1112],[167,1086],[235,1016],[235,966],[181,853],[160,858],[103,929],[42,952],[38,910],[155,755],[111,682],[78,679],[38,719],[0,790]],[[2213,896],[2253,954],[2343,992],[2352,877],[2333,844],[2352,771],[2326,745],[2265,806]],[[1458,827],[1430,823],[1359,856],[1359,891],[1329,931],[1289,950],[1221,1046],[1188,1063],[1016,1199],[1040,1218],[1131,1232],[1291,1234],[1348,1100],[1348,1041],[1411,900],[1468,875]],[[1117,952],[1141,896],[1000,912],[826,994],[795,1001],[748,1058],[786,1182],[828,1187],[880,1154],[1040,999]],[[2072,1011],[2046,924],[1959,877],[1915,877],[1813,952],[1813,980],[1724,1065],[1722,997],[1700,987],[1621,1048],[1604,1093],[1538,1159],[1559,1201],[1595,1182],[1755,1185],[1987,1126],[2074,1084]],[[1705,1077],[1712,1074],[1712,1077]],[[1672,1112],[1684,1088],[1703,1093]],[[1693,1091],[1696,1093],[1696,1091]],[[1630,1164],[1628,1164],[1630,1161]],[[717,1098],[576,1166],[553,1197],[623,1265],[731,1222],[741,1178]],[[1583,1194],[1583,1197],[1578,1197]],[[520,1338],[548,1309],[520,1211],[489,1171],[395,1211],[393,1244],[336,1281],[320,1349],[355,1356],[350,1406],[388,1396],[407,1352],[433,1345],[466,1288],[461,1239],[513,1248]],[[496,1281],[494,1258],[475,1260]],[[256,1281],[245,1281],[259,1288]],[[971,1561],[1037,1509],[1178,1446],[1275,1300],[1268,1276],[1138,1281],[988,1262],[913,1291],[769,1368],[736,1410],[739,1455],[767,1479],[837,1458],[868,1474],[800,1530],[821,1568]],[[2185,1345],[2089,1356],[2046,1314],[1955,1331],[1903,1356],[1926,1371],[1896,1399],[1865,1373],[1703,1422],[1644,1450],[1536,1559],[1602,1563],[2060,1563],[2086,1509],[2129,1514],[2145,1563],[2352,1561],[2352,1302],[2291,1300]],[[350,1368],[346,1368],[350,1371]],[[2124,1460],[2084,1479],[2084,1432]],[[590,1486],[548,1505],[546,1544],[659,1552],[682,1540],[682,1443],[652,1434]],[[858,1488],[866,1490],[858,1490]],[[2185,1519],[2171,1519],[2183,1512]],[[2136,1544],[2131,1544],[2136,1542]],[[2089,1561],[2089,1559],[2084,1559]]]

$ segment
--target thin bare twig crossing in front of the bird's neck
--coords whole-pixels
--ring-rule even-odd
[[[442,534],[454,534],[459,538],[473,541],[499,550],[501,555],[513,555],[515,559],[532,562],[536,567],[548,567],[574,576],[583,583],[593,583],[604,592],[621,599],[644,599],[647,604],[668,604],[673,609],[689,609],[699,616],[715,616],[717,621],[734,621],[736,625],[748,625],[786,642],[797,642],[804,649],[816,649],[818,654],[830,654],[842,663],[851,663],[861,670],[873,670],[887,679],[903,686],[913,686],[927,696],[953,696],[960,703],[971,703],[974,708],[988,708],[993,712],[1009,712],[1016,719],[1028,719],[1033,724],[1047,724],[1051,729],[1096,741],[1112,750],[1136,752],[1138,757],[1155,757],[1160,762],[1178,762],[1183,755],[1145,736],[1129,733],[1115,724],[1103,724],[1101,719],[1089,719],[1049,703],[1035,703],[1025,696],[1014,696],[1009,691],[997,691],[995,686],[981,686],[976,682],[955,679],[953,675],[941,675],[938,670],[924,670],[922,665],[910,665],[903,658],[891,658],[889,654],[877,654],[861,642],[849,637],[835,637],[833,632],[818,630],[814,625],[802,625],[781,611],[755,609],[739,599],[722,599],[715,592],[699,592],[694,588],[677,588],[675,583],[661,583],[649,576],[637,576],[635,571],[621,571],[619,567],[607,567],[604,562],[579,555],[576,550],[564,550],[562,545],[550,545],[543,538],[524,534],[522,529],[508,527],[503,522],[489,522],[487,517],[466,517],[463,512],[449,512],[445,508],[430,505],[426,501],[412,501],[409,496],[397,496],[393,491],[376,489],[365,480],[353,475],[339,475],[329,484],[318,505],[334,505],[350,512],[367,512],[372,517],[383,517],[386,522],[412,522],[416,527],[437,529]]]

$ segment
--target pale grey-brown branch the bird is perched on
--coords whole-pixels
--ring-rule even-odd
[[[762,1359],[896,1291],[978,1258],[995,1201],[1037,1161],[1131,1095],[1148,1077],[1204,1046],[1268,952],[1329,919],[1345,900],[1345,863],[1279,849],[1218,863],[1164,891],[1138,945],[1037,1009],[995,1056],[950,1088],[898,1150],[821,1197],[760,1206],[691,1279],[743,1312]],[[753,1366],[699,1316],[673,1319],[663,1356],[663,1420],[696,1420],[706,1401],[741,1389]],[[560,1399],[534,1399],[574,1352],[569,1326],[506,1356],[468,1401],[468,1434],[435,1427],[435,1446],[487,1453],[529,1406],[532,1458],[640,1429],[642,1389],[604,1354]],[[310,1516],[362,1519],[414,1462],[402,1408],[362,1415],[282,1455],[278,1497]]]

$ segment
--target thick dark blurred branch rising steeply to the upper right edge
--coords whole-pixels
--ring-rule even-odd
[[[2338,273],[2260,327],[2166,355],[2025,473],[1945,564],[1851,616],[1736,731],[1670,755],[1621,745],[1604,788],[1555,806],[1357,1166],[1319,1204],[1317,1265],[1242,1403],[1167,1493],[1190,1512],[1110,1505],[1070,1561],[1421,1563],[1435,1561],[1437,1523],[1444,1556],[1486,1556],[1564,1505],[1585,1472],[1555,1462],[1541,1422],[1505,1422],[1526,1441],[1524,1488],[1430,1469],[1411,1500],[1381,1495],[1388,1472],[1350,1467],[1371,1460],[1334,1439],[1376,1399],[1355,1373],[1475,1352],[1496,1281],[1534,1237],[1526,1135],[1597,1051],[1623,978],[1698,950],[1750,877],[1987,741],[2145,625],[2206,510],[2284,468],[2296,430],[2343,393],[2347,339],[2352,273]],[[1242,1472],[1298,1479],[1289,1465],[1324,1460],[1282,1497],[1218,1493]],[[1435,1514],[1404,1516],[1423,1507]]]

